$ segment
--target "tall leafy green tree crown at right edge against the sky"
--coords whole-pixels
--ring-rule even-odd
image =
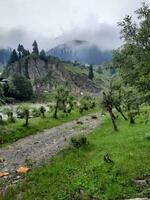
[[[124,83],[143,94],[143,102],[150,103],[150,8],[145,3],[135,11],[137,22],[126,16],[119,23],[123,46],[113,55]]]

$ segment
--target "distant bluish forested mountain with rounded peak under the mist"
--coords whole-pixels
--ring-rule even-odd
[[[73,40],[50,49],[48,55],[65,61],[77,61],[82,64],[101,64],[112,59],[112,51],[102,51],[87,41]]]

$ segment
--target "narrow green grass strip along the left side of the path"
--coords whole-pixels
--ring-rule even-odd
[[[0,147],[4,144],[15,142],[20,138],[36,134],[44,129],[52,128],[65,122],[78,119],[81,116],[96,112],[97,110],[98,108],[95,108],[94,110],[89,110],[83,114],[80,114],[76,109],[73,110],[71,114],[64,117],[59,117],[58,119],[54,119],[51,117],[51,114],[47,114],[46,118],[44,119],[41,117],[30,119],[28,128],[23,126],[25,122],[23,119],[16,120],[16,123],[4,122],[4,124],[0,124]]]

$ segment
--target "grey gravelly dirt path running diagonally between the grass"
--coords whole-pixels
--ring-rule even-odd
[[[10,173],[0,179],[16,177],[16,169],[22,165],[32,163],[36,166],[45,163],[69,144],[71,136],[88,134],[99,124],[99,116],[93,119],[92,115],[88,115],[0,148],[0,172]]]

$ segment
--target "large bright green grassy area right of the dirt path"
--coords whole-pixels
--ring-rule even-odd
[[[47,166],[33,169],[2,199],[14,200],[121,200],[150,197],[150,187],[137,188],[133,180],[150,175],[150,123],[129,126],[119,119],[119,132],[110,120],[88,136],[89,145],[60,152]],[[114,164],[105,163],[110,153]],[[81,191],[82,198],[73,198]]]

